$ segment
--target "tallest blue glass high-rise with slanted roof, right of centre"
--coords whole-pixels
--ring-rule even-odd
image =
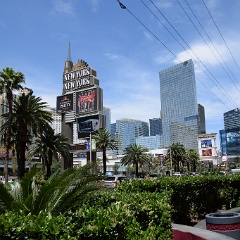
[[[198,104],[192,60],[160,72],[162,143],[164,147],[179,142],[186,149],[196,149]]]

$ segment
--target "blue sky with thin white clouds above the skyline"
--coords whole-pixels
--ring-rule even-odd
[[[207,133],[218,133],[223,113],[240,105],[240,1],[121,2],[127,9],[117,0],[2,1],[0,70],[24,73],[55,107],[70,42],[72,61],[96,69],[112,122],[148,121],[160,116],[159,72],[192,58]]]

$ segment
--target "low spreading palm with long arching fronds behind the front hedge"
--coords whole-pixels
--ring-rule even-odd
[[[85,165],[59,171],[42,186],[36,181],[37,170],[33,167],[22,179],[14,181],[10,191],[0,184],[0,212],[23,211],[26,215],[37,215],[43,211],[58,215],[74,209],[94,196],[93,193],[103,191],[104,177],[91,174],[92,167]]]

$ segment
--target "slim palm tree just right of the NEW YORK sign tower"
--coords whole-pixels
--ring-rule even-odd
[[[93,135],[93,139],[96,141],[96,147],[103,152],[103,174],[107,171],[107,148],[117,150],[117,144],[114,139],[111,138],[111,134],[106,128],[99,129],[96,134]]]

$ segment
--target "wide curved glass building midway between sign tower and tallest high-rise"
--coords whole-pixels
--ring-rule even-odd
[[[136,138],[140,136],[149,136],[147,122],[127,118],[117,120],[115,139],[119,143],[118,154],[123,154],[125,148],[136,143]]]

